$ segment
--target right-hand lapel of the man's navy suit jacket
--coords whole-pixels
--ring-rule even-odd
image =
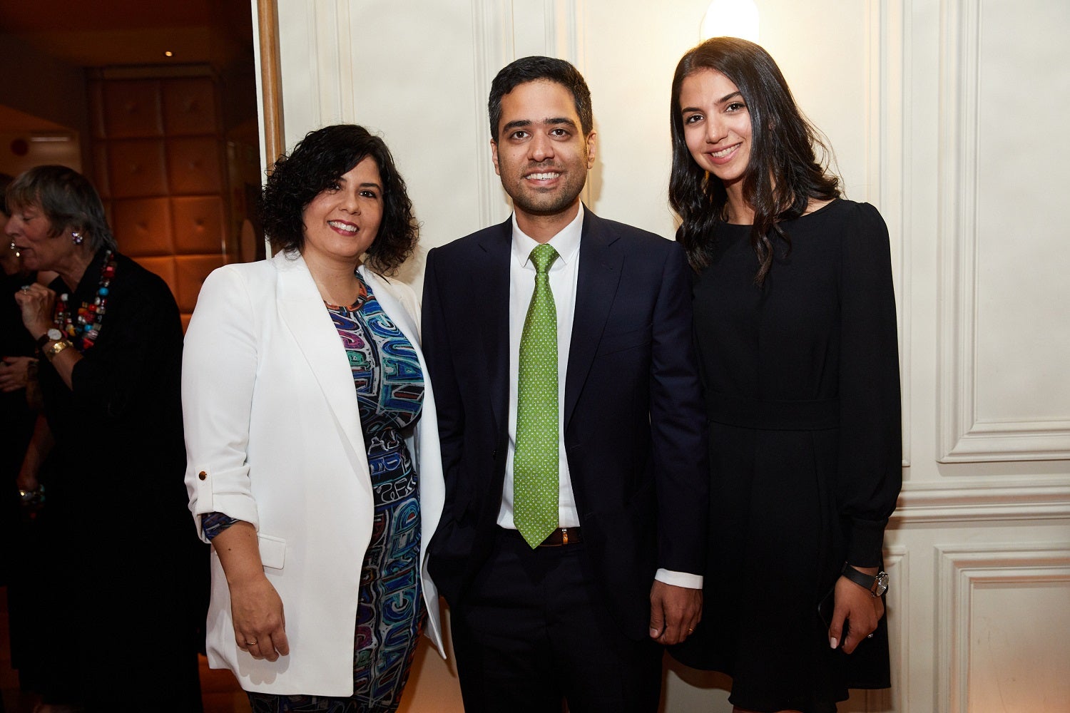
[[[591,371],[610,307],[621,282],[624,254],[613,249],[616,236],[591,211],[583,212],[580,275],[576,284],[572,337],[565,374],[565,429],[572,418],[583,383]]]

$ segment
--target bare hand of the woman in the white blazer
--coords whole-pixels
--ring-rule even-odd
[[[254,658],[276,661],[290,653],[282,600],[262,572],[248,582],[230,584],[230,616],[238,648]]]

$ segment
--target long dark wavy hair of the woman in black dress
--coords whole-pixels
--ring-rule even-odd
[[[732,80],[750,112],[750,161],[743,196],[754,210],[750,243],[759,264],[754,282],[761,285],[773,266],[774,243],[779,238],[785,254],[791,251],[791,238],[778,223],[802,215],[811,199],[839,197],[840,180],[828,170],[831,151],[802,117],[767,51],[737,37],[713,37],[690,49],[676,65],[672,80],[669,203],[683,220],[676,239],[692,268],[709,264],[728,201],[724,184],[694,162],[684,139],[681,88],[687,77],[703,69],[715,69]],[[821,149],[821,161],[815,146]]]

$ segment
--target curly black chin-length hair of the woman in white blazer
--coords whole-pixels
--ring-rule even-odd
[[[368,156],[379,167],[383,182],[383,218],[365,253],[366,262],[383,275],[397,270],[416,248],[419,227],[404,180],[386,143],[355,124],[334,124],[309,131],[288,156],[275,161],[260,196],[264,232],[272,245],[301,250],[305,245],[305,208]]]

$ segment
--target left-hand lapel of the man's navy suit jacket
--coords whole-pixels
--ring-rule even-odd
[[[509,408],[509,260],[513,219],[500,223],[479,242],[485,262],[474,267],[472,298],[482,330],[479,345],[487,359],[490,407],[499,431],[508,423]]]

